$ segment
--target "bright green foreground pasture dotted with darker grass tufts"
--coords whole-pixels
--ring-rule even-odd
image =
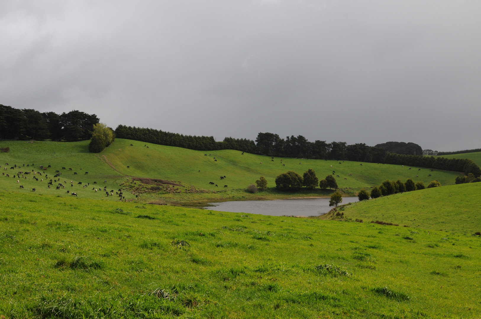
[[[465,231],[145,206],[0,191],[0,316],[476,318],[481,312],[481,239]]]

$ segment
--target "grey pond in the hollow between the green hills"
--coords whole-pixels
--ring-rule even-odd
[[[357,197],[342,197],[342,204],[357,202]],[[215,205],[204,209],[230,211],[234,213],[251,213],[270,216],[318,216],[327,213],[329,198],[296,198],[278,200],[245,200],[211,203]]]

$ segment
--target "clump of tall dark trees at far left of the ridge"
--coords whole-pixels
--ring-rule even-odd
[[[78,110],[57,114],[32,109],[15,109],[0,104],[0,138],[20,140],[81,141],[92,135],[99,123],[95,114]]]

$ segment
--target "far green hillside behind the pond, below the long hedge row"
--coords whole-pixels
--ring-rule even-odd
[[[303,174],[307,169],[312,168],[316,171],[319,179],[335,171],[337,183],[346,195],[353,195],[359,189],[380,184],[385,179],[401,179],[405,181],[411,177],[415,181],[423,181],[429,184],[432,180],[438,180],[441,184],[453,184],[459,173],[437,171],[398,165],[383,165],[376,163],[360,163],[342,161],[325,161],[315,159],[281,159],[270,157],[244,154],[234,150],[222,151],[194,151],[179,147],[168,147],[161,145],[148,144],[143,142],[116,139],[115,142],[107,147],[100,154],[92,154],[88,151],[89,141],[76,143],[59,142],[34,142],[28,141],[7,141],[1,142],[0,146],[10,147],[10,152],[0,153],[0,166],[3,173],[18,172],[18,169],[10,170],[10,167],[21,166],[22,171],[31,168],[23,167],[27,164],[35,164],[34,171],[39,171],[38,166],[51,165],[47,170],[49,179],[55,174],[56,170],[63,172],[60,177],[61,183],[66,181],[67,189],[55,190],[47,189],[45,180],[42,182],[34,181],[32,175],[27,179],[20,180],[11,177],[0,176],[1,190],[15,190],[22,184],[24,191],[31,191],[36,188],[36,192],[41,194],[65,194],[66,190],[75,191],[82,198],[103,198],[104,200],[116,200],[117,197],[106,197],[103,186],[107,190],[117,190],[125,183],[127,178],[132,176],[160,178],[164,180],[180,182],[186,188],[179,188],[176,192],[169,194],[143,194],[138,193],[140,201],[155,201],[161,199],[169,203],[179,204],[198,204],[223,200],[243,200],[243,199],[276,199],[295,196],[327,196],[330,191],[307,189],[299,193],[282,193],[275,189],[275,178],[278,174],[287,171],[294,171]],[[130,146],[133,144],[133,146]],[[144,147],[147,145],[149,148]],[[207,156],[204,156],[207,154]],[[211,155],[209,155],[211,154]],[[214,161],[214,158],[217,161]],[[262,164],[261,164],[262,162]],[[7,170],[3,164],[9,163]],[[284,164],[284,166],[283,166]],[[360,165],[362,164],[362,165]],[[127,168],[127,166],[130,166]],[[332,166],[332,167],[331,167]],[[62,170],[65,167],[66,170]],[[69,171],[68,168],[72,168]],[[200,171],[200,172],[199,172]],[[77,172],[77,175],[74,175]],[[85,172],[89,172],[85,175]],[[351,174],[351,175],[349,175]],[[432,176],[429,176],[431,174]],[[257,194],[245,192],[245,187],[253,184],[260,176],[265,176],[268,181],[268,190]],[[416,177],[419,175],[419,177]],[[220,176],[226,176],[221,180]],[[103,181],[107,181],[104,183]],[[74,186],[70,186],[73,181]],[[130,179],[131,181],[131,179]],[[90,183],[88,188],[78,185],[78,182]],[[92,185],[94,182],[98,184]],[[214,182],[215,185],[209,185]],[[54,183],[55,184],[55,183]],[[208,192],[188,192],[187,188],[191,185],[196,190],[206,190]],[[227,188],[223,187],[228,185]],[[102,187],[102,192],[95,193],[92,188]],[[115,195],[115,194],[114,194]],[[132,194],[124,193],[126,199],[135,198]]]

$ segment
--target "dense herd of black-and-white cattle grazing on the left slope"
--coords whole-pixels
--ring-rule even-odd
[[[8,163],[5,163],[5,165],[9,165]],[[10,167],[11,170],[14,170],[14,169],[20,169],[21,167],[25,167],[25,164],[23,164],[22,166],[20,165],[14,165],[12,167]],[[27,164],[26,167],[30,168],[30,164]],[[32,167],[34,167],[34,164],[32,164]],[[13,178],[18,178],[17,180],[17,184],[20,184],[20,179],[27,179],[27,175],[31,175],[33,174],[33,179],[36,180],[38,182],[38,177],[35,176],[35,175],[38,175],[38,176],[41,176],[43,178],[45,178],[45,180],[47,180],[47,188],[50,188],[51,186],[53,186],[53,183],[57,183],[55,189],[59,190],[61,188],[65,188],[65,185],[64,184],[68,184],[66,180],[63,181],[64,184],[61,183],[61,180],[60,180],[60,176],[62,175],[62,172],[60,172],[59,170],[55,171],[55,175],[53,175],[53,179],[51,178],[50,180],[48,179],[48,172],[47,170],[49,168],[51,168],[51,165],[48,165],[47,167],[43,167],[43,165],[40,165],[38,167],[41,171],[37,171],[35,172],[35,170],[32,170],[32,172],[24,172],[24,171],[18,171],[16,173],[13,173]],[[7,167],[4,167],[3,170],[7,170]],[[65,167],[62,167],[62,170],[66,170]],[[69,168],[70,171],[72,171],[71,168]],[[3,176],[5,177],[10,177],[10,174],[5,174],[5,173],[2,173]],[[42,175],[43,174],[43,175]],[[85,172],[85,175],[88,175],[89,172]],[[22,177],[20,177],[20,175],[22,175]],[[74,175],[77,175],[77,172],[74,172]],[[43,178],[40,178],[40,182],[43,182]],[[58,179],[57,179],[58,178]],[[104,180],[103,183],[107,183],[107,180]],[[93,182],[93,184],[97,184],[97,182]],[[82,186],[82,182],[78,182],[77,185],[80,185]],[[87,188],[89,187],[90,183],[87,183],[87,184],[83,184],[83,188]],[[74,187],[74,181],[70,181],[70,186],[71,187]],[[23,185],[20,185],[20,188],[25,188]],[[32,192],[35,192],[37,189],[36,188],[32,188]],[[92,190],[97,193],[98,191],[101,191],[101,187],[99,187],[99,189],[97,190],[95,187],[92,188]],[[112,189],[110,192],[107,191],[107,186],[103,186],[103,191],[105,192],[105,195],[106,196],[114,196],[114,190]],[[67,190],[67,194],[71,194],[72,196],[77,196],[77,194],[75,192],[70,192],[70,190]],[[115,194],[119,197],[120,200],[122,199],[125,199],[125,196],[123,196],[123,192],[122,192],[122,189],[119,189],[117,192],[115,192]]]

